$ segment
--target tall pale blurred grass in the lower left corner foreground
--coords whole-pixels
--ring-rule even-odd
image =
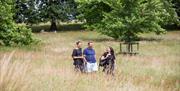
[[[12,56],[5,55],[0,60],[0,91],[25,91],[29,86],[27,80],[27,62],[12,62]]]

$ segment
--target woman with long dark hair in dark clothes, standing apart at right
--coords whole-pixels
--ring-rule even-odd
[[[100,57],[99,67],[103,67],[103,72],[114,75],[115,59],[114,49],[109,46]]]

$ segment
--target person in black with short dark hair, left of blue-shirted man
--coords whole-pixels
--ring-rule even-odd
[[[82,55],[82,43],[81,41],[76,42],[76,48],[73,49],[72,58],[74,60],[75,71],[84,72],[84,57]]]

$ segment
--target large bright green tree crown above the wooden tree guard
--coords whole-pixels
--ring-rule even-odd
[[[138,34],[145,32],[164,33],[161,28],[163,23],[172,20],[173,12],[171,4],[162,0],[78,0],[79,6],[84,6],[82,15],[85,20],[97,19],[97,22],[88,23],[92,29],[115,39],[124,41],[135,41]],[[96,8],[100,7],[93,4],[102,2],[109,6],[110,11],[100,9],[99,15]],[[166,4],[166,5],[165,5]],[[90,5],[90,8],[86,8]],[[165,9],[165,6],[167,9]],[[81,9],[80,9],[81,10]],[[107,9],[105,9],[107,10]],[[167,14],[167,15],[166,15]],[[92,15],[92,16],[90,16]],[[100,18],[98,16],[101,16]],[[174,21],[177,18],[173,18]]]

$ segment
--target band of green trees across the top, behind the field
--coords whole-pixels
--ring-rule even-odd
[[[17,38],[14,34],[19,35],[19,30],[26,29],[17,27],[16,23],[51,22],[49,31],[56,31],[57,22],[76,20],[84,22],[88,30],[123,41],[137,40],[139,33],[161,34],[165,28],[180,26],[179,0],[1,0],[0,4],[1,45],[21,44],[21,39],[33,40],[24,36]],[[11,37],[6,36],[9,31]],[[29,30],[23,33],[31,36]],[[22,44],[30,44],[31,40]]]

